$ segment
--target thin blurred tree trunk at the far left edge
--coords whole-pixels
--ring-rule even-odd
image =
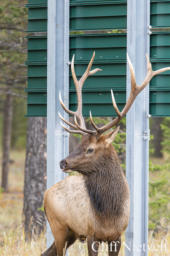
[[[3,161],[1,187],[5,192],[8,190],[9,153],[11,144],[11,127],[13,115],[12,94],[7,94],[4,104],[4,126],[3,126]]]

